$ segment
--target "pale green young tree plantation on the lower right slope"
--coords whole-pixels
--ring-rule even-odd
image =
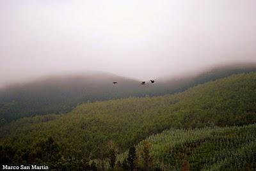
[[[255,170],[256,124],[166,130],[146,140],[160,170]],[[138,144],[138,149],[144,142]]]

